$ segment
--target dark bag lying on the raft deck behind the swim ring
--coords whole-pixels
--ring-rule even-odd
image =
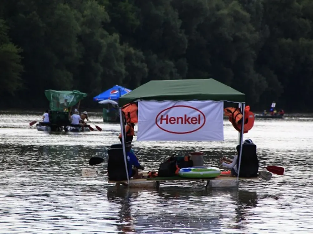
[[[190,159],[190,156],[175,157],[175,154],[173,154],[160,164],[158,177],[173,177],[178,175],[179,169],[187,167],[193,167],[193,161]]]

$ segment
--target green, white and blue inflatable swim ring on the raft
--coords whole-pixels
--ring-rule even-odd
[[[216,167],[188,167],[181,168],[178,173],[184,178],[216,178],[221,170]]]

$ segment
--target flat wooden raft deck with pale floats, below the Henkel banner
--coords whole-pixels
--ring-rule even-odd
[[[256,180],[256,178],[239,178],[239,180]],[[182,178],[182,177],[168,177],[168,178],[143,178],[143,179],[131,179],[129,181],[130,188],[157,188],[159,186],[160,181],[209,181],[209,188],[234,188],[237,187],[237,178],[230,176],[219,176],[217,178]],[[127,180],[125,181],[108,181],[108,183],[116,183],[119,186],[121,183],[127,184]]]

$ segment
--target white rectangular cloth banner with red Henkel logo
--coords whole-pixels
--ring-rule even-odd
[[[139,101],[138,141],[222,141],[223,101]]]

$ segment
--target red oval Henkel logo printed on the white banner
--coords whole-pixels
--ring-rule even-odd
[[[171,114],[168,114],[168,112],[171,112]],[[196,132],[204,126],[205,121],[205,115],[201,110],[186,105],[166,108],[156,116],[156,126],[173,134]]]

